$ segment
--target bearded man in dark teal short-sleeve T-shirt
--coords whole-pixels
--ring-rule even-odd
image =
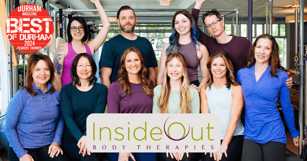
[[[146,78],[152,80],[155,85],[156,71],[154,68],[158,66],[156,56],[150,41],[134,34],[137,22],[134,10],[129,6],[122,6],[117,11],[117,22],[121,33],[106,41],[101,51],[99,61],[101,83],[106,85],[109,90],[111,83],[118,79],[117,72],[123,52],[129,47],[135,46],[141,51],[144,65],[149,69]]]

